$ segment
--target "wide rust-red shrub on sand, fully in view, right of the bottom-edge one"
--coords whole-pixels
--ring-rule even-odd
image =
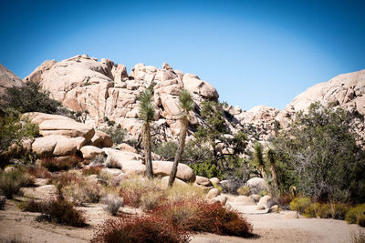
[[[165,218],[175,227],[187,231],[210,232],[219,235],[250,237],[252,226],[238,212],[220,203],[201,199],[166,201],[152,214]]]

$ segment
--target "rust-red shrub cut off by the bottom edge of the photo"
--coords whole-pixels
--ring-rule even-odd
[[[153,216],[107,219],[95,232],[91,243],[188,242],[190,235],[181,228]]]

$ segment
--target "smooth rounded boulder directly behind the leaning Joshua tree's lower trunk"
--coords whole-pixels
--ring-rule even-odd
[[[160,176],[170,176],[173,162],[170,161],[152,161],[153,174]],[[177,167],[176,177],[183,181],[195,181],[195,174],[193,169],[185,164],[179,163]]]

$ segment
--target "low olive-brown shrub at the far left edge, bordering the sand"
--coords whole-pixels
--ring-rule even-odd
[[[0,172],[0,190],[8,199],[19,193],[21,187],[33,186],[34,180],[24,169],[16,168],[9,172]]]

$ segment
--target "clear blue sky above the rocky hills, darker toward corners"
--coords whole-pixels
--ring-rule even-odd
[[[0,63],[17,76],[78,54],[166,61],[234,106],[284,108],[365,68],[365,1],[0,0]]]

